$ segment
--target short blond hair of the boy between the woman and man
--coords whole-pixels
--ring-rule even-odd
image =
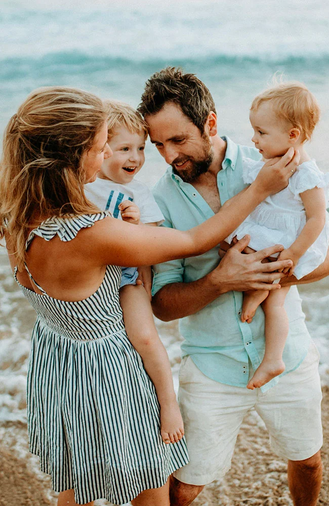
[[[117,134],[122,126],[132,134],[141,134],[147,138],[147,124],[133,107],[125,102],[104,100],[107,109],[108,140]]]

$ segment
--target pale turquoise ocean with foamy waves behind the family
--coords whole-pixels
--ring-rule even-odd
[[[2,1],[0,134],[35,88],[63,85],[137,106],[145,81],[168,65],[195,73],[213,94],[219,132],[252,145],[250,104],[278,72],[304,82],[321,120],[307,148],[329,171],[329,4],[322,0],[36,0]],[[166,164],[147,143],[139,179],[152,186]],[[329,280],[300,289],[307,324],[329,383]],[[0,254],[0,420],[26,421],[25,385],[34,321]],[[177,323],[157,321],[175,384],[180,361]]]

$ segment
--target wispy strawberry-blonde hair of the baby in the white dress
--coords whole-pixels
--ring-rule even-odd
[[[250,110],[271,101],[278,118],[298,128],[302,142],[309,141],[320,118],[320,108],[315,97],[302,82],[280,82],[258,95]]]

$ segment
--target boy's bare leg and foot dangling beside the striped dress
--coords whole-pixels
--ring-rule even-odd
[[[175,443],[184,435],[184,425],[174,391],[167,351],[156,331],[151,304],[144,286],[120,288],[120,305],[124,313],[128,338],[140,354],[160,404],[161,437]]]

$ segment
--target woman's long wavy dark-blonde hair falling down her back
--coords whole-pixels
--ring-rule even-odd
[[[32,92],[9,120],[0,162],[0,239],[6,228],[19,268],[36,222],[99,212],[85,197],[83,155],[106,119],[95,95],[49,87]]]

